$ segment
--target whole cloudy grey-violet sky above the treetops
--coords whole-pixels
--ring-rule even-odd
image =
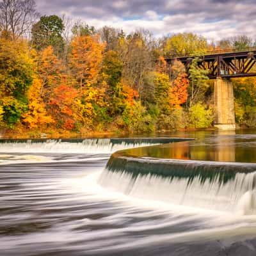
[[[155,36],[192,32],[218,41],[234,35],[256,40],[256,0],[35,0],[41,15],[64,15],[126,33]]]

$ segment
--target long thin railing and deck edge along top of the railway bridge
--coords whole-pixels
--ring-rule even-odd
[[[186,57],[196,57],[196,56],[208,56],[208,55],[216,55],[216,54],[228,54],[228,53],[239,53],[239,52],[255,52],[256,47],[246,47],[246,48],[226,48],[226,49],[218,49],[214,51],[205,51],[205,52],[189,52],[184,54],[172,54],[166,56],[166,59],[179,59]]]

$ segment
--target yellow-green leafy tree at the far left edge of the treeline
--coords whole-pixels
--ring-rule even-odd
[[[5,127],[13,128],[27,109],[26,92],[34,72],[32,53],[25,40],[0,38],[0,106]]]

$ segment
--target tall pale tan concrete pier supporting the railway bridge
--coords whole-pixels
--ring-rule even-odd
[[[217,77],[214,82],[214,126],[221,130],[236,129],[233,84],[230,79]]]

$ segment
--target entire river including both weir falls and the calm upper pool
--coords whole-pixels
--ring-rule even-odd
[[[256,136],[177,136],[2,141],[0,255],[256,255]]]

